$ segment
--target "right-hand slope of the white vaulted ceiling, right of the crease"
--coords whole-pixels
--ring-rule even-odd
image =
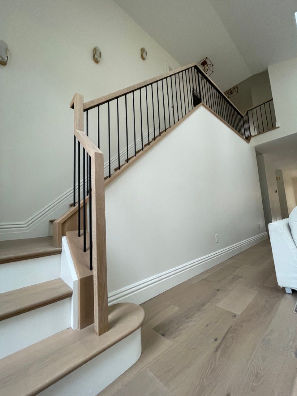
[[[252,74],[297,56],[296,0],[210,0]]]

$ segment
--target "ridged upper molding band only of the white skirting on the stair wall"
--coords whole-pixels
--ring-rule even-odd
[[[155,133],[157,134],[157,131],[159,133],[159,125],[155,125],[155,128],[150,129],[149,135],[150,139],[154,136],[154,130]],[[164,128],[161,126],[161,131],[163,131]],[[143,133],[143,145],[145,145],[148,141],[148,134],[147,132]],[[139,150],[141,148],[141,137],[136,140],[136,150]],[[129,157],[134,154],[134,142],[131,143],[128,146],[128,153]],[[124,148],[122,151],[120,151],[120,163],[123,164],[126,159],[126,148]],[[110,159],[110,169],[111,173],[113,173],[114,168],[118,166],[118,156],[115,155]],[[109,173],[109,161],[105,162],[104,164],[104,174],[107,176]],[[82,181],[80,182],[80,189],[81,189],[81,196],[82,196]],[[76,185],[76,192],[78,191],[78,184]],[[55,218],[54,215],[55,211],[59,210],[60,208],[64,207],[65,211],[65,205],[70,204],[73,200],[73,188],[70,187],[67,191],[65,191],[63,194],[58,196],[55,200],[51,201],[48,205],[44,206],[44,208],[40,209],[38,212],[34,213],[32,216],[30,216],[27,220],[25,221],[15,221],[15,222],[4,222],[0,223],[0,240],[2,239],[1,236],[4,236],[4,234],[17,234],[17,233],[28,233],[30,230],[32,230],[34,227],[36,227],[38,224],[40,224],[42,221],[48,221],[50,218]],[[67,209],[66,209],[67,210]],[[63,213],[61,213],[63,214]],[[60,214],[60,215],[61,215]],[[59,216],[57,216],[59,217]],[[17,237],[21,236],[15,236],[13,235],[13,239],[16,239]],[[30,235],[26,235],[27,238],[30,238]]]

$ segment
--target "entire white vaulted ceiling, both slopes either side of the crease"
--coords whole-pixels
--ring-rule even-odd
[[[116,2],[181,65],[208,56],[223,90],[297,56],[296,0]]]

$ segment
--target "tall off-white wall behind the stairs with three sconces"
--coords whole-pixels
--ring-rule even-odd
[[[0,66],[0,223],[18,225],[72,186],[74,93],[88,101],[179,64],[111,0],[3,0],[0,37],[10,51]]]

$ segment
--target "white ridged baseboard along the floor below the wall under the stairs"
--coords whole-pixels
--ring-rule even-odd
[[[147,278],[135,284],[116,290],[109,293],[109,304],[118,302],[141,304],[152,297],[171,289],[171,287],[177,286],[193,276],[201,274],[201,272],[222,263],[245,249],[264,241],[267,238],[267,232],[263,232],[234,245],[215,251],[214,253],[210,253],[204,257],[200,257],[199,259],[190,261],[189,263],[152,276],[151,278]]]

